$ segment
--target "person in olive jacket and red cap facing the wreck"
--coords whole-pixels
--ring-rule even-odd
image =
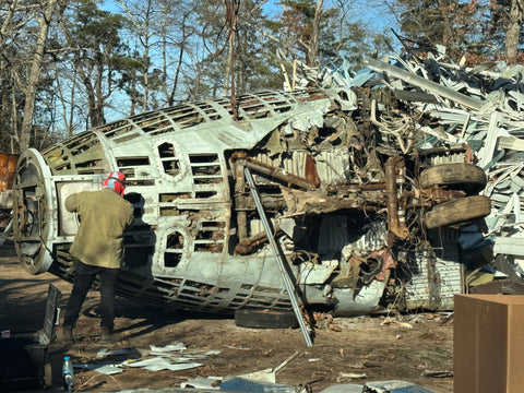
[[[103,342],[112,342],[115,283],[123,258],[123,231],[133,222],[133,207],[126,201],[126,175],[112,171],[99,191],[83,191],[66,199],[68,212],[80,216],[79,231],[71,246],[74,258],[73,289],[63,319],[63,342],[72,343],[73,326],[95,276],[100,282]]]

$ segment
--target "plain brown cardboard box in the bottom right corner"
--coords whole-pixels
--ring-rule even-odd
[[[454,300],[454,393],[524,392],[524,296]]]

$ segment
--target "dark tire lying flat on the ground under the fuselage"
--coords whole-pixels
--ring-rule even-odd
[[[235,312],[235,324],[254,329],[289,329],[298,327],[293,311],[241,309]]]

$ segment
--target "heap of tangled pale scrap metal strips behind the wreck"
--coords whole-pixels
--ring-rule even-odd
[[[450,62],[441,52],[390,56],[384,61],[370,59],[368,68],[353,73],[348,63],[309,72],[303,84],[361,86],[379,78],[377,85],[393,94],[420,117],[434,121],[418,131],[427,135],[424,148],[467,143],[475,160],[488,178],[481,194],[491,200],[487,228],[463,228],[458,239],[463,251],[487,249],[472,269],[495,269],[515,282],[524,277],[524,67],[502,61],[466,68]],[[397,135],[400,136],[400,135]],[[478,254],[477,254],[478,257]],[[490,259],[492,257],[492,259]],[[461,261],[463,262],[463,261]]]

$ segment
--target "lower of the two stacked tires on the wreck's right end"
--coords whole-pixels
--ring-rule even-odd
[[[460,198],[438,204],[425,215],[428,229],[440,228],[487,216],[491,212],[491,201],[487,196]]]

